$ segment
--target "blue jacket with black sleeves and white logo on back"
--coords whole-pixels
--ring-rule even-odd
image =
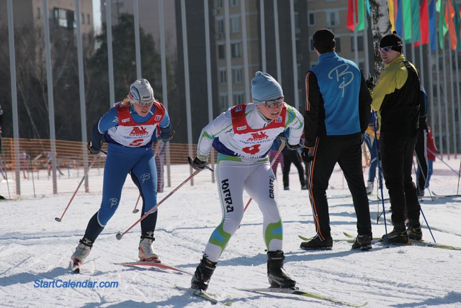
[[[336,54],[323,53],[306,74],[304,133],[306,147],[317,137],[348,138],[363,133],[371,96],[358,66]]]

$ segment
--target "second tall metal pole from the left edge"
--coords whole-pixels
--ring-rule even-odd
[[[43,0],[43,24],[45,31],[46,79],[48,94],[48,120],[50,126],[51,169],[53,175],[53,194],[57,194],[56,183],[56,133],[54,128],[53,75],[51,70],[50,28],[48,23],[48,3]]]

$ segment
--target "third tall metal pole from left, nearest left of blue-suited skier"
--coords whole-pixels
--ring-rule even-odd
[[[83,73],[83,48],[82,48],[82,24],[80,21],[80,0],[75,0],[75,12],[77,17],[77,58],[79,62],[79,90],[80,90],[80,122],[82,128],[82,157],[83,165],[88,165],[88,151],[86,149],[86,107],[85,107],[85,75]],[[88,177],[85,178],[85,192],[88,192]]]

